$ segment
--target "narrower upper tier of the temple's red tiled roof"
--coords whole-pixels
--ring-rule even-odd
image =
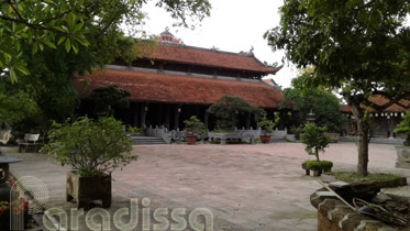
[[[156,47],[154,56],[155,59],[158,61],[170,61],[191,65],[242,69],[266,74],[275,74],[280,69],[280,67],[265,66],[254,56],[204,50],[185,45],[180,46],[160,43]]]

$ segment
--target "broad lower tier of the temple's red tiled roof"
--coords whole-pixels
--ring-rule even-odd
[[[237,96],[263,108],[278,108],[282,92],[263,82],[190,77],[137,70],[103,69],[92,76],[78,77],[76,87],[81,98],[92,89],[117,85],[131,92],[132,101],[212,105],[223,95]],[[84,90],[84,85],[88,87]]]

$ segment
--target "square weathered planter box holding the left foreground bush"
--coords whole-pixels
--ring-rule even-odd
[[[101,200],[103,208],[111,206],[111,175],[80,176],[77,170],[67,172],[67,201],[75,200],[78,208],[85,202]]]

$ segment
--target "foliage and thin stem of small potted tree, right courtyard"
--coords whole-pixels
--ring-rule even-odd
[[[303,132],[300,134],[300,140],[306,144],[306,152],[309,155],[314,155],[319,162],[319,152],[324,152],[329,146],[330,139],[325,134],[325,127],[317,127],[314,123],[306,123]]]

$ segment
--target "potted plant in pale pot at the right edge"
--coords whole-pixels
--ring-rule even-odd
[[[410,168],[410,111],[406,112],[402,121],[397,124],[395,132],[406,134],[405,146],[396,146],[396,167]]]

